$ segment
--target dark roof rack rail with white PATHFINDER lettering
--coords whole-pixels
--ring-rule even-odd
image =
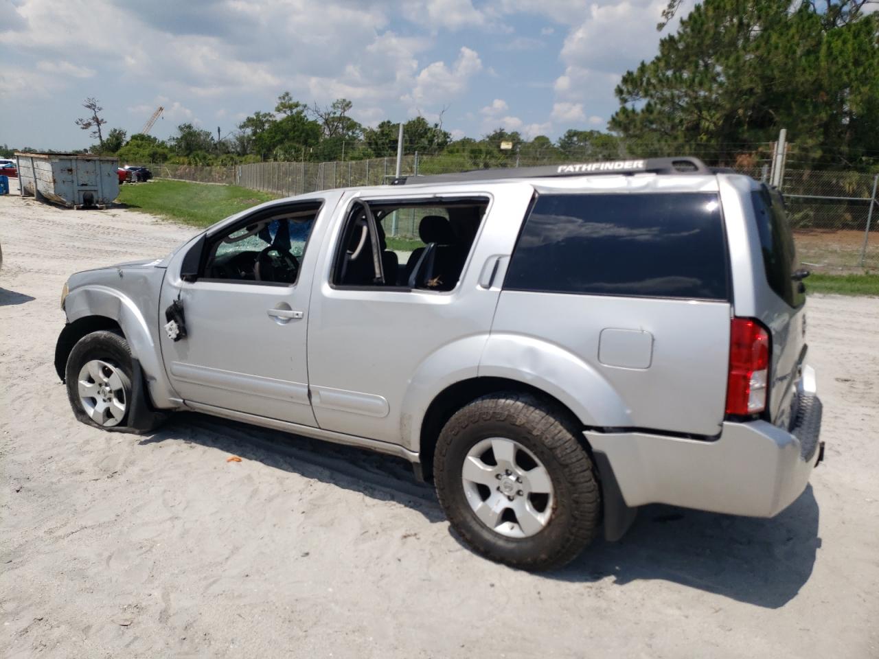
[[[596,174],[711,174],[705,163],[692,156],[606,160],[594,163],[560,163],[540,167],[516,167],[495,170],[460,171],[454,174],[399,177],[390,185],[450,183],[453,181],[490,181],[500,178],[570,177]]]

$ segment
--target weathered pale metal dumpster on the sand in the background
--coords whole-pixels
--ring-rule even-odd
[[[119,159],[73,153],[18,153],[22,197],[74,208],[105,207],[119,196]]]

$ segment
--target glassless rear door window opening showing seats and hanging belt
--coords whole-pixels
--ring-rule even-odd
[[[333,283],[405,290],[451,291],[461,279],[488,202],[467,199],[438,205],[436,199],[401,204],[358,202],[343,230]],[[370,221],[370,216],[372,221]],[[388,233],[409,218],[403,246],[390,250]],[[411,235],[418,227],[418,238]],[[410,245],[415,246],[414,249]],[[411,251],[409,251],[411,250]]]

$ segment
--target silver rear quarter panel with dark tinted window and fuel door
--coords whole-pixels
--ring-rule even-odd
[[[715,435],[730,354],[717,192],[541,192],[491,331],[568,351],[637,428]]]

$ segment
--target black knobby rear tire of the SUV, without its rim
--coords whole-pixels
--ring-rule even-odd
[[[534,453],[554,489],[541,531],[510,538],[492,530],[470,507],[461,482],[468,452],[487,438],[510,438]],[[578,425],[556,405],[534,395],[501,392],[459,409],[439,434],[433,459],[439,503],[465,545],[513,568],[545,570],[572,561],[595,538],[601,494],[595,467],[578,441]]]

